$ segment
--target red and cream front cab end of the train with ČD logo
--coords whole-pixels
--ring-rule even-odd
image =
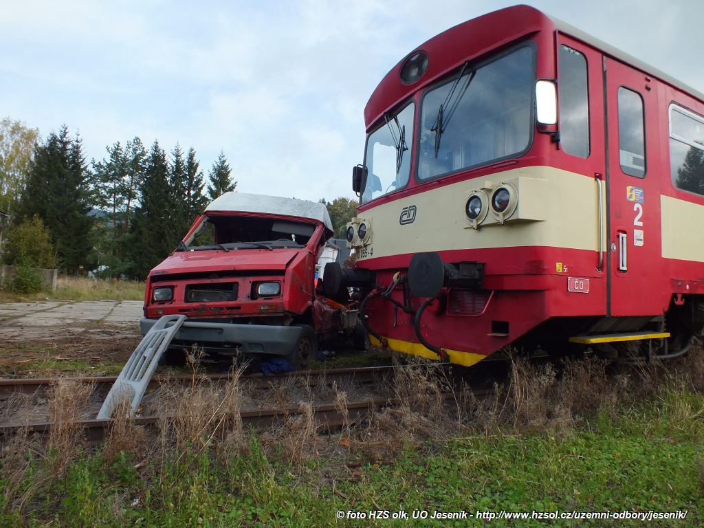
[[[356,263],[340,272],[372,343],[469,366],[605,313],[604,157],[584,58],[555,42],[546,15],[506,8],[421,44],[375,89]]]

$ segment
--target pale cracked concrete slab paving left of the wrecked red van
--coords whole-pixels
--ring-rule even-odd
[[[42,301],[0,304],[0,341],[55,339],[101,329],[139,332],[142,301]],[[93,332],[96,330],[96,332]],[[113,332],[107,332],[114,334]],[[107,337],[107,336],[106,336]]]

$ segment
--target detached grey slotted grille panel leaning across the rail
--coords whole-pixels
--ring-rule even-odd
[[[137,413],[146,386],[151,381],[161,355],[171,344],[171,340],[185,320],[185,315],[163,315],[151,327],[125,363],[118,379],[115,379],[115,383],[100,408],[98,420],[109,420],[121,398],[130,398],[132,400],[132,416]]]

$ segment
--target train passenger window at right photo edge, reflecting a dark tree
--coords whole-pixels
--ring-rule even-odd
[[[670,105],[670,171],[677,189],[704,194],[704,118]]]

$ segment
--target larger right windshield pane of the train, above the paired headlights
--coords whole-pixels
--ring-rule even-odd
[[[525,151],[532,134],[535,61],[522,46],[463,70],[422,99],[418,177],[427,180]]]

